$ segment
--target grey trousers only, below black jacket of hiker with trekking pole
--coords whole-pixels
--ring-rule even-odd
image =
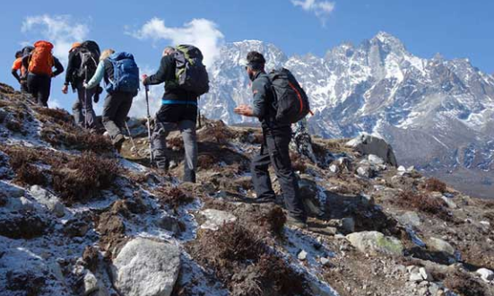
[[[169,132],[179,130],[184,140],[186,161],[184,164],[184,182],[195,183],[195,170],[197,169],[197,136],[195,134],[195,121],[182,120],[178,122],[157,121],[152,131],[153,156],[156,165],[161,170],[168,170],[169,157],[167,157],[167,136]]]

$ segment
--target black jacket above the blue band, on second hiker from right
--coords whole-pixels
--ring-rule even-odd
[[[175,58],[172,56],[161,57],[160,69],[156,74],[152,74],[144,80],[144,85],[165,83],[165,93],[163,100],[183,100],[197,102],[197,95],[194,92],[185,91],[175,83],[176,76]]]

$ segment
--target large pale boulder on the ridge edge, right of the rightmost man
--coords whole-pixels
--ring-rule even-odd
[[[394,167],[398,166],[391,145],[377,136],[362,134],[351,139],[346,145],[362,155],[374,155],[373,158],[377,156]]]

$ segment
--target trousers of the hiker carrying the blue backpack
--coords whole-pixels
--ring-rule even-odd
[[[108,93],[103,104],[102,121],[113,144],[116,144],[117,135],[122,134],[126,118],[132,107],[133,93],[114,91]]]

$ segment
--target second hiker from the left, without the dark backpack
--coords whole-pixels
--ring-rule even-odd
[[[95,103],[98,102],[98,87],[89,90],[83,87],[86,77],[81,75],[83,69],[81,69],[81,56],[78,50],[80,46],[81,43],[74,42],[72,48],[69,50],[69,61],[65,72],[65,83],[62,92],[67,94],[70,83],[72,90],[77,91],[77,100],[75,100],[72,106],[75,124],[84,128],[94,128],[96,114],[94,113],[94,109],[92,109],[92,100]],[[91,77],[87,77],[87,79],[91,79]]]

